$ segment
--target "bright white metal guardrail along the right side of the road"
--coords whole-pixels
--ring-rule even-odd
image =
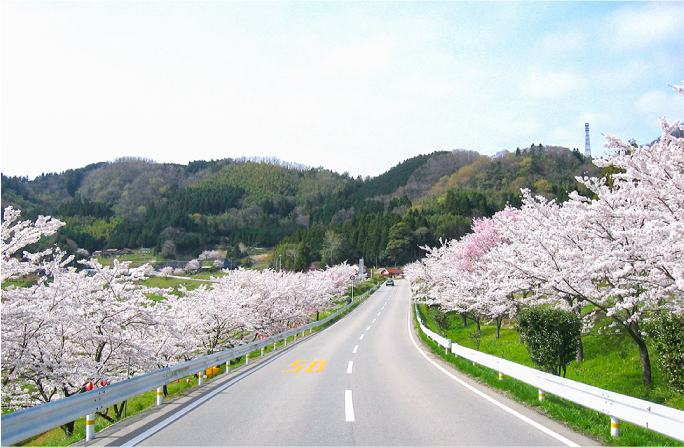
[[[445,340],[448,339],[427,329],[417,308],[416,316],[421,330],[440,346],[446,347]],[[620,420],[624,420],[684,441],[684,411],[554,376],[519,363],[466,348],[458,343],[453,343],[451,340],[448,340],[448,344],[447,349],[451,349],[453,354],[498,371],[499,377],[506,375],[538,388],[540,399],[548,392],[610,416],[613,436],[619,434]]]

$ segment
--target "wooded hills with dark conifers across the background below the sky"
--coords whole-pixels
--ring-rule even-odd
[[[240,263],[245,246],[260,245],[277,246],[293,269],[358,257],[401,264],[420,256],[419,245],[519,203],[521,187],[564,200],[575,176],[598,174],[579,152],[541,145],[496,157],[419,155],[366,179],[276,159],[124,158],[31,181],[3,175],[2,206],[66,222],[56,242],[70,252],[150,247],[190,258],[220,249]]]

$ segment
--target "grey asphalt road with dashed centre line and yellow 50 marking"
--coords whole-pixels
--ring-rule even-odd
[[[149,446],[595,444],[495,392],[473,391],[467,379],[464,386],[423,353],[410,328],[400,280],[251,374],[150,415],[129,434],[98,437]]]

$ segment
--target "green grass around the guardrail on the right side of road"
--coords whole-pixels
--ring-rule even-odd
[[[419,312],[426,326],[431,330],[441,333],[455,343],[475,349],[469,337],[469,334],[476,330],[474,323],[469,322],[464,328],[460,316],[450,316],[452,323],[450,329],[440,332],[437,324],[430,319],[424,305],[419,305]],[[417,322],[415,324],[417,326]],[[497,357],[501,357],[503,353],[507,360],[534,367],[525,346],[518,343],[518,333],[515,329],[502,328],[501,337],[496,339],[495,326],[483,324],[481,327],[481,352]],[[535,387],[510,377],[499,380],[498,371],[473,365],[471,361],[456,357],[451,353],[445,354],[444,348],[427,338],[422,332],[418,332],[433,352],[456,366],[461,372],[603,444],[616,446],[684,445],[682,442],[625,421],[620,422],[620,436],[611,437],[609,416],[550,394],[546,395],[546,400],[539,402],[538,390]],[[653,371],[653,381],[656,385],[649,389],[643,387],[638,351],[632,348],[633,343],[629,339],[621,336],[590,336],[585,337],[584,341],[585,361],[581,364],[572,362],[568,365],[568,379],[675,408],[683,408],[682,396],[664,385],[661,374],[656,368]],[[653,356],[651,360],[655,364]]]

